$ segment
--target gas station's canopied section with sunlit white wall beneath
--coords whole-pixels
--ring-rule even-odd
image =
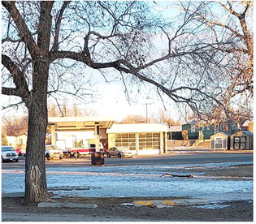
[[[113,123],[113,118],[102,116],[49,117],[50,132],[46,140],[60,149],[84,148],[89,143],[99,145],[100,141],[104,144],[106,130]]]

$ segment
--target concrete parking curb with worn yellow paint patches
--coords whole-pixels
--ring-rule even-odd
[[[209,200],[202,199],[173,199],[173,200],[133,200],[133,205],[140,206],[174,206],[174,205],[207,205]]]

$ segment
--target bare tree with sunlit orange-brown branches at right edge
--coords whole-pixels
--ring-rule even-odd
[[[186,13],[194,15],[197,11],[197,24],[206,28],[210,41],[215,41],[211,46],[211,57],[219,60],[216,66],[225,77],[215,77],[222,91],[215,97],[218,101],[201,107],[201,118],[215,119],[216,122],[226,118],[243,123],[245,114],[247,118],[252,116],[248,105],[254,93],[253,4],[253,1],[181,3]],[[246,112],[240,110],[242,105],[247,107]]]

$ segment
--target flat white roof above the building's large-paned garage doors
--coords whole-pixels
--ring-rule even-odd
[[[106,133],[144,133],[144,132],[168,132],[167,123],[128,123],[113,124]]]

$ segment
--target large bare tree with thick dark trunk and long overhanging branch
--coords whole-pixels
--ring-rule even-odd
[[[219,42],[197,24],[204,3],[193,11],[184,6],[175,19],[161,17],[156,4],[2,2],[2,94],[20,97],[28,108],[26,203],[50,200],[44,161],[47,97],[68,93],[92,101],[90,71],[100,71],[106,81],[118,71],[125,84],[153,85],[160,96],[186,103],[197,114],[213,101],[226,110],[220,99],[228,87],[221,83],[228,79],[221,71],[230,58],[219,56]]]

